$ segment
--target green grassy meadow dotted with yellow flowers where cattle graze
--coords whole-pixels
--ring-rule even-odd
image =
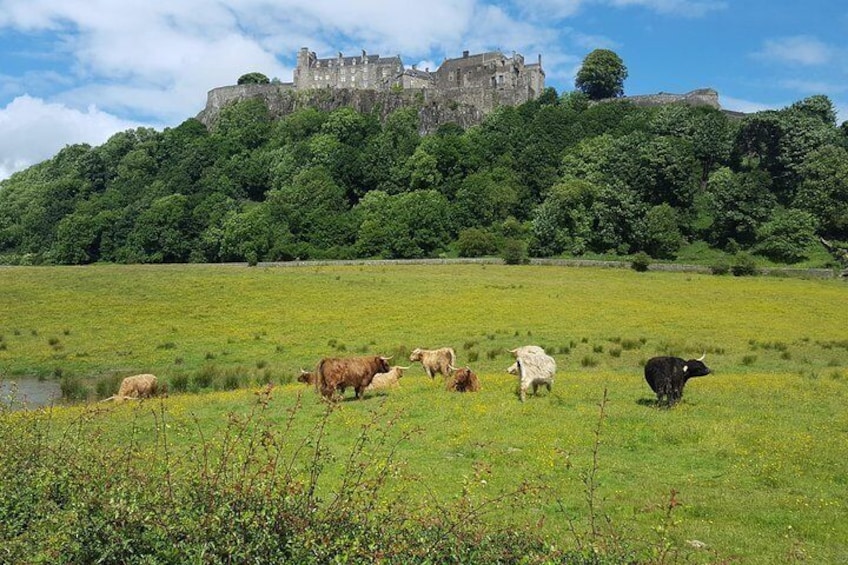
[[[103,265],[2,268],[0,288],[0,379],[59,379],[87,397],[29,415],[0,409],[7,430],[47,422],[47,444],[96,437],[104,453],[132,445],[151,465],[166,445],[176,476],[205,473],[230,450],[245,469],[259,465],[244,453],[250,431],[266,429],[285,435],[283,458],[309,473],[320,436],[316,488],[327,497],[352,467],[390,468],[386,499],[422,512],[460,500],[469,516],[538,526],[561,547],[633,545],[656,563],[848,562],[843,281]],[[505,369],[507,350],[525,344],[545,347],[558,372],[552,393],[522,404]],[[323,356],[409,365],[411,349],[438,346],[478,373],[480,393],[450,394],[419,366],[398,389],[328,411],[295,382]],[[703,352],[714,374],[691,380],[677,407],[656,407],[644,362]],[[140,372],[171,395],[94,402]],[[532,488],[512,496],[523,481]]]

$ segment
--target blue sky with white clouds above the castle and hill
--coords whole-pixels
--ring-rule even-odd
[[[844,0],[0,0],[0,179],[68,144],[178,125],[246,72],[290,81],[300,47],[432,69],[464,50],[541,55],[559,92],[606,48],[625,94],[710,87],[744,112],[825,94],[841,122],[846,38]]]

